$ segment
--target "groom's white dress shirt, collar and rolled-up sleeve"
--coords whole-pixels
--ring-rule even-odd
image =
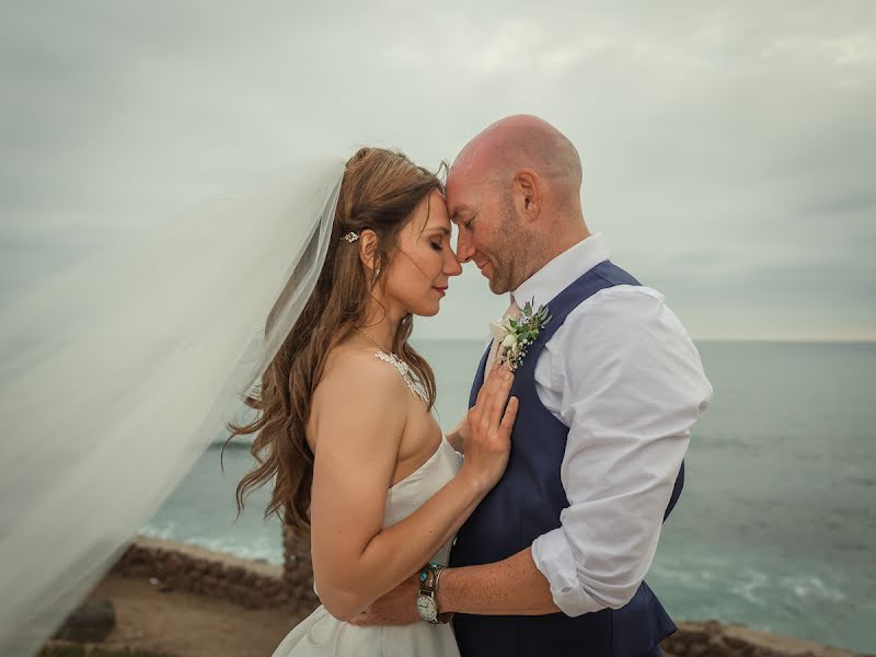
[[[511,295],[538,308],[604,260],[593,234]],[[539,354],[535,390],[569,428],[560,471],[569,506],[532,543],[535,566],[569,616],[623,607],[654,560],[690,428],[712,397],[700,355],[660,292],[619,285],[568,314]]]

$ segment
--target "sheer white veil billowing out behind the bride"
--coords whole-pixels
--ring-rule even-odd
[[[39,649],[242,407],[315,286],[343,172],[301,161],[0,310],[0,655]]]

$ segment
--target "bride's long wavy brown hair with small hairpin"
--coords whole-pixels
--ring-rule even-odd
[[[362,148],[347,161],[316,287],[262,377],[258,391],[244,400],[257,416],[249,424],[227,424],[231,435],[226,446],[234,436],[257,434],[250,451],[258,464],[238,483],[238,517],[246,494],[276,476],[264,517],[276,514],[295,532],[309,532],[313,453],[304,431],[313,392],[331,349],[364,320],[371,291],[392,266],[401,229],[434,189],[443,194],[440,178],[401,152]],[[349,231],[365,229],[378,235],[373,269],[362,264],[357,243],[342,240]],[[392,350],[419,379],[431,408],[435,374],[407,343],[412,330],[413,316],[407,314]]]

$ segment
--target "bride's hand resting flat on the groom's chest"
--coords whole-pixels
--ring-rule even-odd
[[[483,491],[495,486],[508,465],[519,404],[517,397],[508,400],[512,383],[514,373],[507,366],[495,365],[460,425],[465,427],[465,460],[460,475],[470,477]]]

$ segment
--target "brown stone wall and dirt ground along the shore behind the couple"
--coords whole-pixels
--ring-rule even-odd
[[[103,645],[175,657],[269,655],[319,603],[309,554],[296,551],[304,545],[287,551],[284,568],[138,538],[91,593],[112,600],[118,616]],[[667,657],[868,657],[717,621],[679,622],[662,647]]]

